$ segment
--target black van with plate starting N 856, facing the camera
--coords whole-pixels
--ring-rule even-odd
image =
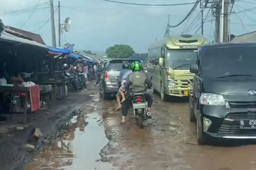
[[[256,43],[202,46],[196,64],[190,121],[197,122],[197,139],[256,139]]]

